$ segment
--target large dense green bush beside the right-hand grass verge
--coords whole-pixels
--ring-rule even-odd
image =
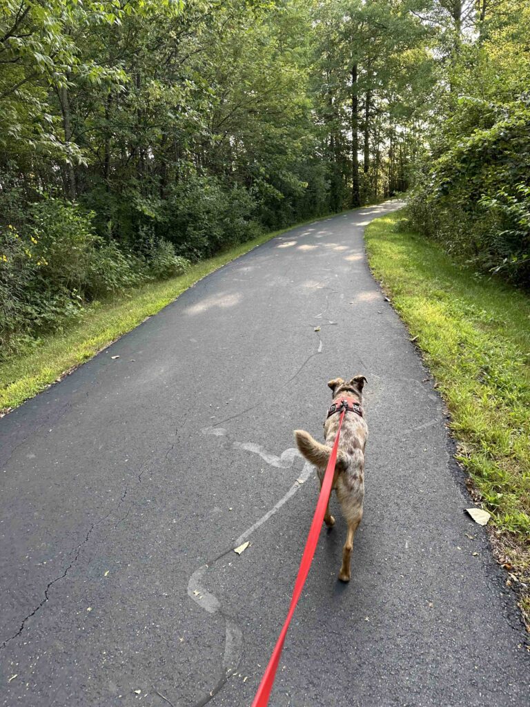
[[[483,125],[454,141],[476,113],[462,100],[444,126],[435,160],[408,202],[411,226],[479,270],[530,286],[530,100],[484,111]],[[457,131],[458,132],[458,131]]]

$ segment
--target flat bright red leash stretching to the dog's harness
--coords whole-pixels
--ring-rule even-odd
[[[307,575],[310,571],[314,551],[317,549],[320,530],[322,529],[322,522],[324,521],[326,506],[328,505],[329,494],[331,493],[331,486],[333,484],[338,451],[338,438],[341,434],[342,421],[345,413],[346,409],[343,409],[341,419],[338,421],[337,436],[335,438],[333,449],[331,450],[331,456],[329,457],[329,462],[326,467],[326,473],[324,474],[324,481],[322,482],[322,489],[320,489],[317,508],[314,510],[310,532],[307,535],[307,541],[305,543],[304,553],[302,554],[302,560],[300,561],[300,567],[298,568],[298,575],[295,581],[293,597],[290,600],[287,618],[285,619],[285,624],[283,624],[283,629],[281,629],[278,641],[276,641],[276,645],[274,646],[271,660],[269,660],[269,665],[267,665],[263,677],[261,678],[258,691],[254,697],[254,701],[252,702],[252,707],[266,707],[269,703],[269,695],[271,694],[274,677],[276,676],[276,669],[278,668],[278,662],[280,661],[283,642],[285,641],[285,636],[287,635],[287,629],[289,628],[290,620],[293,618],[293,614],[295,613],[296,604],[298,604],[298,600],[302,594],[302,589],[304,588],[305,580],[307,579]]]

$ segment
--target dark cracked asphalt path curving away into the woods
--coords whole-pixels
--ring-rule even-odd
[[[293,429],[322,438],[326,382],[358,373],[352,580],[333,500],[271,706],[530,703],[446,411],[367,267],[363,228],[397,206],[261,245],[0,420],[1,704],[249,706],[317,498]]]

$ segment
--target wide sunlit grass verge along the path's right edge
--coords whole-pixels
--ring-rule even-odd
[[[457,458],[493,514],[495,554],[529,626],[530,298],[454,264],[399,212],[373,221],[366,243],[447,402]]]

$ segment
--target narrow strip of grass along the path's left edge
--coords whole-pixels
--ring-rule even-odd
[[[334,214],[336,215],[336,214]],[[130,290],[112,300],[88,305],[81,320],[64,332],[42,338],[37,348],[0,363],[0,416],[44,390],[65,373],[81,365],[112,341],[175,300],[184,290],[257,245],[290,228],[328,218],[312,218],[295,226],[265,233],[220,255],[194,265],[184,275]]]

